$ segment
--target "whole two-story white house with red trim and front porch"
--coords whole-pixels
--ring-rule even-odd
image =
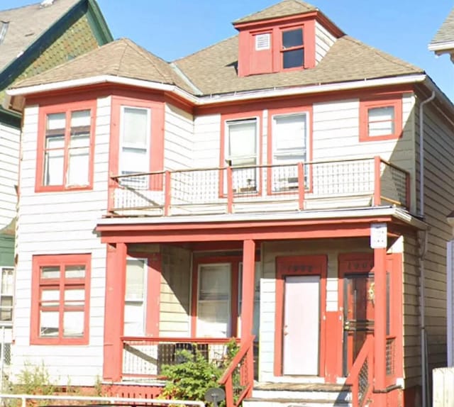
[[[171,63],[116,40],[9,90],[14,368],[153,397],[177,350],[217,362],[234,337],[228,407],[417,406],[445,364],[454,106],[304,1],[233,26]]]

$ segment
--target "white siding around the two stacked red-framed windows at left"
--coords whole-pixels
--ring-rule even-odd
[[[106,247],[94,233],[106,213],[110,134],[110,97],[97,103],[92,191],[35,193],[38,106],[26,108],[22,140],[21,207],[18,213],[16,308],[13,374],[26,362],[48,369],[52,382],[93,386],[102,375]],[[33,255],[91,253],[89,345],[30,345]],[[71,355],[71,357],[68,357]]]

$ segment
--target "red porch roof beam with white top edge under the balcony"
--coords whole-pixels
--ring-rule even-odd
[[[104,218],[96,227],[105,243],[165,243],[241,240],[292,240],[370,236],[371,223],[388,223],[389,234],[426,223],[399,208],[380,207],[297,213]]]

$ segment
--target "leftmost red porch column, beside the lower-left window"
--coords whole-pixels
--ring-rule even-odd
[[[126,244],[107,245],[103,379],[121,380]]]

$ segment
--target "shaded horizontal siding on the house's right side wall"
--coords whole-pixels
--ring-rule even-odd
[[[419,150],[419,103],[416,151]],[[454,209],[454,126],[433,104],[424,106],[424,214],[431,226],[424,260],[429,372],[446,365],[446,242],[452,230],[446,216]],[[419,155],[417,198],[419,202]]]

